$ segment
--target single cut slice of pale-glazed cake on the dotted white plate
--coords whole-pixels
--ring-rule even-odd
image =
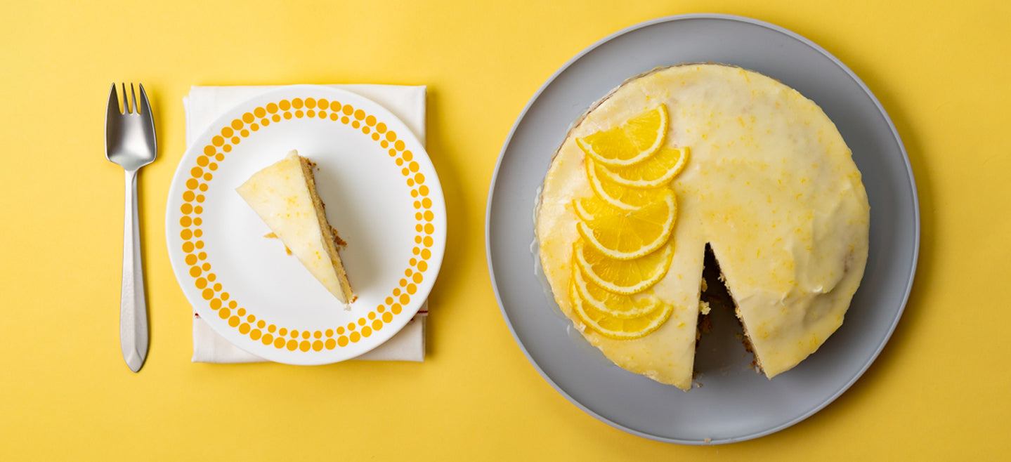
[[[313,164],[292,151],[236,188],[305,269],[343,303],[354,301],[334,227],[315,190]]]

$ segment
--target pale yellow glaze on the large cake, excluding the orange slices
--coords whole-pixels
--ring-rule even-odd
[[[665,104],[665,146],[688,147],[674,179],[674,259],[654,294],[671,317],[637,340],[586,330],[567,297],[572,200],[593,193],[575,138]],[[536,232],[562,311],[619,366],[691,387],[703,260],[709,243],[771,378],[807,358],[842,324],[867,258],[869,206],[835,125],[813,101],[763,75],[682,65],[631,79],[568,133],[548,171]]]

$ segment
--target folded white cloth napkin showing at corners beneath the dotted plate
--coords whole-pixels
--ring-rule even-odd
[[[425,145],[425,86],[403,85],[333,85],[371,99],[403,120]],[[186,146],[207,128],[222,112],[246,99],[275,87],[229,86],[191,87],[183,97],[186,110]],[[429,302],[395,336],[372,351],[355,359],[367,361],[425,361],[425,324]],[[196,312],[193,313],[194,363],[255,363],[267,361],[232,345],[217,335]]]

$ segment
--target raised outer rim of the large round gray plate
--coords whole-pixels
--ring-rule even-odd
[[[878,345],[878,347],[875,349],[874,353],[867,359],[866,363],[863,364],[863,366],[860,367],[859,370],[857,370],[849,380],[847,380],[845,383],[843,383],[842,386],[840,386],[837,390],[835,390],[834,392],[832,392],[832,394],[828,398],[826,398],[823,402],[821,402],[820,404],[812,407],[808,411],[806,411],[806,412],[798,415],[797,418],[794,418],[791,421],[788,421],[786,423],[779,424],[777,426],[774,426],[772,428],[769,428],[769,429],[766,429],[766,430],[763,430],[763,431],[760,431],[760,432],[754,432],[754,433],[751,433],[751,434],[748,434],[748,435],[743,435],[743,436],[738,436],[738,437],[732,437],[732,438],[726,438],[726,439],[720,439],[720,440],[712,440],[712,441],[709,441],[709,442],[700,441],[700,440],[684,440],[684,439],[678,439],[678,438],[666,438],[666,437],[661,437],[661,436],[657,436],[657,435],[651,435],[651,434],[648,434],[648,433],[645,433],[645,432],[641,432],[641,431],[638,431],[638,430],[635,430],[635,429],[631,429],[631,428],[626,427],[624,425],[621,425],[621,424],[619,424],[617,422],[614,422],[614,421],[612,421],[612,420],[610,420],[610,419],[608,419],[608,418],[606,418],[604,415],[601,415],[600,413],[598,413],[598,412],[593,411],[592,409],[586,407],[581,402],[579,402],[578,400],[576,400],[575,398],[573,398],[564,389],[562,389],[561,387],[559,387],[558,384],[555,383],[555,381],[552,380],[552,378],[547,373],[545,373],[545,371],[541,367],[541,365],[538,364],[537,361],[534,360],[534,358],[531,356],[530,352],[527,350],[527,347],[523,344],[523,342],[520,341],[520,337],[517,335],[517,332],[516,332],[515,328],[513,327],[513,322],[510,321],[510,315],[505,311],[504,304],[502,303],[501,295],[499,294],[498,284],[497,284],[496,279],[495,279],[494,265],[492,263],[492,258],[491,258],[491,210],[492,210],[492,205],[493,205],[493,202],[494,202],[495,184],[497,183],[497,180],[498,180],[498,172],[499,172],[499,169],[500,169],[501,164],[502,164],[502,159],[505,157],[505,153],[509,150],[510,145],[513,142],[513,136],[516,134],[517,128],[523,122],[524,118],[527,116],[527,112],[534,105],[534,103],[537,102],[537,100],[541,97],[541,95],[543,94],[543,92],[555,81],[556,78],[558,78],[558,76],[560,76],[562,73],[564,73],[566,70],[568,70],[568,68],[570,66],[572,66],[574,63],[576,63],[577,61],[581,60],[584,56],[586,56],[590,52],[594,51],[595,49],[600,48],[601,45],[603,45],[603,44],[605,44],[605,43],[607,43],[607,42],[609,42],[609,41],[611,41],[611,40],[613,40],[613,39],[615,39],[615,38],[617,38],[617,37],[619,37],[621,35],[625,35],[626,33],[629,33],[629,32],[632,32],[632,31],[635,31],[635,30],[638,30],[638,29],[642,29],[642,28],[645,28],[645,27],[649,27],[649,26],[652,26],[652,25],[655,25],[655,24],[660,24],[660,23],[665,23],[665,22],[673,22],[673,21],[679,21],[679,20],[691,20],[691,19],[719,19],[719,20],[727,20],[727,21],[733,21],[733,22],[743,22],[743,23],[747,23],[747,24],[751,24],[751,25],[757,25],[757,26],[760,26],[760,27],[764,27],[766,29],[770,29],[772,31],[782,33],[782,34],[784,34],[784,35],[786,35],[786,36],[788,36],[790,38],[794,38],[794,39],[800,41],[801,43],[803,43],[803,44],[811,48],[812,50],[814,50],[818,54],[820,54],[823,57],[827,58],[832,64],[834,64],[839,69],[841,69],[843,72],[845,72],[846,75],[849,76],[849,78],[852,79],[852,81],[855,82],[860,87],[861,90],[863,90],[863,93],[866,94],[870,98],[871,102],[874,102],[875,107],[878,108],[878,111],[885,118],[885,121],[888,122],[889,129],[892,131],[892,135],[893,135],[893,137],[894,137],[897,146],[899,147],[899,151],[902,153],[902,161],[903,161],[903,164],[906,167],[906,174],[909,177],[909,182],[910,182],[910,189],[911,189],[912,201],[913,201],[913,204],[912,204],[913,205],[913,220],[914,220],[914,223],[915,223],[915,226],[914,226],[914,246],[913,246],[913,255],[912,255],[912,265],[911,265],[911,268],[910,268],[909,277],[908,277],[907,282],[906,282],[906,287],[905,287],[905,290],[904,290],[904,293],[903,293],[903,296],[902,296],[902,302],[900,303],[899,309],[898,309],[898,311],[895,314],[895,318],[892,319],[892,322],[889,326],[888,332],[886,333],[884,339],[882,340],[882,342],[880,343],[880,345]],[[889,116],[888,111],[886,111],[885,107],[882,106],[881,101],[878,100],[878,97],[875,96],[874,92],[870,91],[870,89],[866,86],[866,84],[864,84],[863,81],[860,80],[860,78],[855,73],[853,73],[852,70],[849,69],[849,67],[847,67],[845,64],[842,63],[842,61],[840,61],[838,58],[836,58],[834,55],[832,55],[831,53],[829,53],[827,50],[823,49],[819,44],[815,43],[814,41],[808,39],[807,37],[805,37],[805,36],[803,36],[803,35],[801,35],[801,34],[799,34],[797,32],[794,32],[793,30],[787,29],[787,28],[785,28],[783,26],[778,26],[778,25],[775,25],[775,24],[772,24],[772,23],[769,23],[769,22],[765,22],[765,21],[759,20],[759,19],[755,19],[755,18],[751,18],[751,17],[746,17],[746,16],[739,16],[739,15],[734,15],[734,14],[723,14],[723,13],[687,13],[687,14],[675,14],[675,15],[670,15],[670,16],[664,16],[664,17],[659,17],[659,18],[655,18],[655,19],[650,19],[650,20],[647,20],[647,21],[639,22],[637,24],[633,24],[633,25],[630,25],[628,27],[622,28],[622,29],[620,29],[620,30],[618,30],[616,32],[613,32],[613,33],[611,33],[611,34],[609,34],[609,35],[607,35],[607,36],[599,39],[598,41],[595,41],[592,44],[590,44],[589,47],[583,49],[582,51],[580,51],[579,53],[577,53],[575,56],[573,56],[571,59],[569,59],[568,61],[566,61],[565,64],[563,64],[561,67],[559,67],[558,70],[556,70],[553,74],[551,74],[551,76],[540,86],[540,88],[537,89],[537,91],[534,93],[534,95],[530,98],[530,100],[527,102],[527,104],[523,107],[523,110],[520,111],[520,114],[517,116],[516,121],[513,123],[512,128],[510,128],[509,134],[505,136],[505,141],[502,143],[502,148],[501,148],[501,150],[498,153],[498,159],[495,161],[495,168],[494,168],[494,170],[493,170],[493,172],[491,174],[491,182],[488,185],[488,198],[487,198],[487,201],[485,203],[485,214],[484,214],[484,250],[485,250],[485,261],[486,261],[487,266],[488,266],[488,275],[489,275],[489,278],[491,280],[491,288],[492,288],[492,291],[494,292],[494,295],[495,295],[495,301],[498,304],[498,310],[501,313],[503,320],[505,321],[505,326],[507,326],[507,328],[509,328],[510,334],[513,336],[513,340],[520,347],[520,350],[523,352],[524,356],[527,357],[527,361],[532,366],[534,366],[534,369],[537,370],[537,372],[541,375],[541,377],[544,378],[551,385],[551,387],[555,389],[555,391],[559,392],[562,396],[565,397],[565,399],[567,399],[572,404],[575,404],[576,407],[582,409],[584,412],[586,412],[586,413],[592,415],[593,418],[595,418],[596,420],[599,420],[599,421],[601,421],[601,422],[603,422],[603,423],[605,423],[605,424],[607,424],[607,425],[609,425],[611,427],[614,427],[614,428],[616,428],[618,430],[621,430],[623,432],[630,433],[632,435],[636,435],[638,437],[646,438],[646,439],[649,439],[649,440],[663,442],[663,443],[674,443],[674,444],[691,445],[691,446],[711,446],[711,445],[729,444],[729,443],[738,443],[738,442],[748,441],[748,440],[752,440],[752,439],[756,439],[756,438],[761,438],[761,437],[764,437],[764,436],[767,436],[767,435],[771,435],[771,434],[776,433],[776,432],[778,432],[780,430],[790,428],[790,427],[792,427],[792,426],[794,426],[794,425],[796,425],[796,424],[798,424],[798,423],[800,423],[800,422],[802,422],[802,421],[810,418],[811,415],[814,415],[815,413],[817,413],[821,409],[825,408],[825,406],[827,406],[828,404],[830,404],[833,401],[835,401],[840,395],[842,395],[842,393],[844,393],[846,390],[848,390],[849,387],[852,386],[853,383],[855,383],[856,380],[858,380],[863,375],[864,372],[866,372],[866,370],[870,367],[870,365],[874,364],[875,361],[878,359],[878,356],[881,354],[881,352],[885,349],[885,346],[888,345],[889,340],[891,340],[892,335],[895,333],[896,327],[899,325],[899,319],[902,318],[902,314],[903,314],[903,312],[906,309],[906,304],[909,302],[909,296],[910,296],[910,293],[912,291],[913,281],[916,279],[916,269],[917,269],[917,266],[919,264],[920,228],[921,228],[921,222],[920,222],[919,193],[918,193],[918,190],[917,190],[917,187],[916,187],[916,178],[913,175],[913,169],[912,169],[912,166],[911,166],[910,161],[909,161],[909,154],[906,152],[906,146],[902,142],[902,136],[899,135],[899,131],[896,128],[895,123],[892,121],[892,117]]]

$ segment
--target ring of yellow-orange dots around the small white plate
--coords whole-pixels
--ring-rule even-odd
[[[232,152],[232,147],[272,123],[292,118],[319,118],[340,122],[360,130],[382,149],[388,150],[389,157],[400,168],[400,174],[410,188],[416,210],[417,235],[415,247],[411,249],[412,256],[409,265],[403,270],[403,277],[398,281],[398,285],[389,292],[383,303],[359,317],[357,321],[349,322],[347,326],[335,326],[325,331],[289,330],[248,312],[242,303],[231,298],[220,282],[216,282],[217,276],[211,271],[201,240],[203,193],[207,191],[208,184],[214,178],[214,172],[220,167],[219,164],[224,162]],[[196,165],[190,169],[190,178],[186,180],[183,204],[179,210],[182,212],[179,218],[179,225],[182,226],[179,237],[183,241],[182,250],[185,254],[183,259],[189,267],[193,284],[200,290],[203,299],[209,303],[210,309],[217,312],[221,319],[226,319],[231,328],[254,341],[268,346],[273,345],[278,350],[301,352],[333,350],[372,336],[390,324],[394,316],[400,314],[403,306],[417,294],[418,285],[425,280],[425,273],[432,259],[431,248],[435,244],[432,238],[435,225],[432,221],[435,215],[432,211],[432,199],[429,197],[430,190],[425,184],[425,175],[419,172],[421,166],[413,160],[413,153],[406,149],[403,140],[398,138],[385,123],[362,109],[356,109],[350,104],[342,104],[339,101],[314,98],[282,99],[244,113],[241,118],[221,127],[219,134],[215,134],[210,144],[203,148],[203,153],[196,158]]]

